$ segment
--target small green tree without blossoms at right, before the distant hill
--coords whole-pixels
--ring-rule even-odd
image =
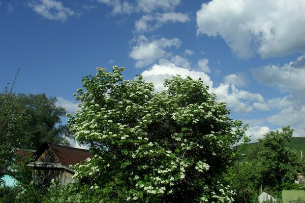
[[[262,147],[248,167],[250,180],[256,188],[269,188],[273,191],[289,189],[297,180],[298,173],[304,172],[305,162],[287,144],[291,141],[293,129],[283,127],[282,131],[270,131],[259,139]]]

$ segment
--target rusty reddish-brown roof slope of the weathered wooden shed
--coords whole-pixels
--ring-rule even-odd
[[[89,150],[50,143],[48,143],[48,145],[54,151],[55,155],[59,159],[59,162],[66,166],[83,162],[87,158],[93,158],[93,155],[89,152]]]

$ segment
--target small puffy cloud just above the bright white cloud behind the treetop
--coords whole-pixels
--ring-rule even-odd
[[[129,56],[136,60],[135,67],[143,67],[154,63],[157,59],[169,57],[171,54],[164,49],[172,46],[179,47],[180,44],[177,38],[149,41],[145,36],[140,36]]]

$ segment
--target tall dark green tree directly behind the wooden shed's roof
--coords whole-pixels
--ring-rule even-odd
[[[63,137],[66,126],[62,125],[66,110],[56,105],[55,97],[45,94],[18,94],[16,103],[28,119],[22,122],[23,142],[18,146],[25,149],[38,149],[44,142],[69,145]]]

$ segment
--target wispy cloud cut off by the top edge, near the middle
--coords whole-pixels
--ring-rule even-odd
[[[180,0],[98,0],[98,2],[113,7],[113,15],[131,14],[132,12],[153,13],[156,10],[173,11],[181,3]]]

